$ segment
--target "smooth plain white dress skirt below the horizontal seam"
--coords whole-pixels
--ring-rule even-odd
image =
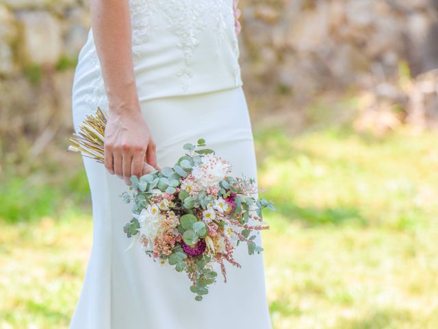
[[[77,130],[90,106],[86,84],[76,84],[73,119]],[[257,178],[248,107],[242,87],[144,100],[142,115],[157,145],[157,163],[172,167],[185,143],[205,138],[207,147],[233,164],[234,175]],[[93,245],[70,329],[270,329],[263,255],[237,247],[237,269],[226,264],[202,302],[194,300],[185,273],[155,263],[130,240],[123,226],[131,205],[119,197],[127,186],[83,158],[92,195]],[[261,245],[261,234],[256,242]]]

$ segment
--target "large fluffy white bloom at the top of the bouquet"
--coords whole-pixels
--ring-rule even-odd
[[[218,184],[229,173],[231,173],[231,164],[214,154],[203,156],[202,164],[194,166],[192,170],[196,182],[205,188]]]

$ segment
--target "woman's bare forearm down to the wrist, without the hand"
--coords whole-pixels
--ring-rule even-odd
[[[128,0],[90,0],[91,25],[110,112],[138,111]]]

